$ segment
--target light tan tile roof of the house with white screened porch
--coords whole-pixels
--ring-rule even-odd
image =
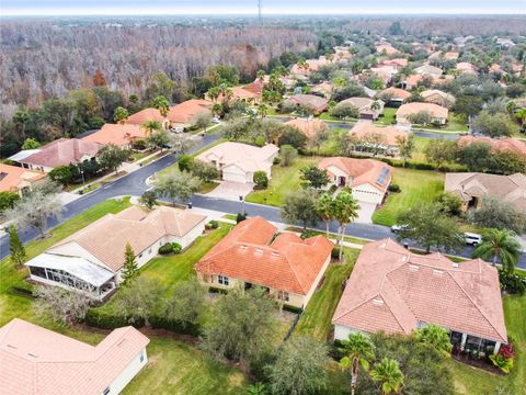
[[[57,247],[75,242],[116,272],[123,267],[126,242],[139,255],[163,236],[182,237],[206,219],[205,215],[167,206],[159,206],[149,213],[141,211],[132,206],[118,214],[107,214],[56,244],[47,252],[54,253]]]

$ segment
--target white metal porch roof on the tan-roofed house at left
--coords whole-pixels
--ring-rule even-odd
[[[94,286],[101,286],[115,274],[84,258],[66,257],[55,253],[41,253],[25,262],[26,267],[62,270]]]

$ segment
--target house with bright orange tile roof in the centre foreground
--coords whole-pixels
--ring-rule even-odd
[[[261,286],[284,304],[305,307],[331,261],[324,236],[278,234],[258,216],[239,223],[196,264],[197,279],[214,289]]]

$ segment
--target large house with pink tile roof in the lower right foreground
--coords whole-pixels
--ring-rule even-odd
[[[507,343],[496,268],[413,253],[389,238],[364,246],[332,324],[338,340],[352,332],[411,335],[435,324],[462,349],[496,352]]]

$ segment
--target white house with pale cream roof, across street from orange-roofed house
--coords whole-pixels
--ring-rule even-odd
[[[195,159],[221,170],[225,181],[253,183],[256,171],[264,171],[271,178],[272,165],[278,151],[279,148],[274,144],[256,147],[226,142],[207,149]]]

